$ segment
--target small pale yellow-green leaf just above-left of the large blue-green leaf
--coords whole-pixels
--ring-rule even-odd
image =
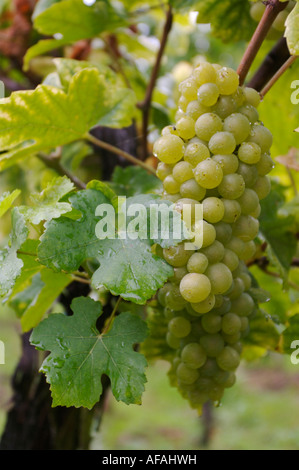
[[[72,210],[69,202],[59,202],[74,189],[74,184],[66,177],[54,178],[41,194],[31,196],[33,206],[21,206],[19,211],[27,221],[38,225],[42,221],[56,219]]]

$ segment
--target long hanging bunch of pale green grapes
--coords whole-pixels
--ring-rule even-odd
[[[270,191],[272,135],[260,96],[228,67],[202,63],[179,85],[176,124],[154,144],[163,197],[182,213],[201,205],[202,246],[160,248],[174,275],[158,291],[173,350],[172,382],[194,408],[235,382],[257,306],[245,261],[254,256],[260,200]],[[194,243],[194,242],[193,242]]]

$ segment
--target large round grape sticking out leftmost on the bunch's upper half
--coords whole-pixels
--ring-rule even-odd
[[[164,135],[154,143],[153,153],[161,162],[177,163],[183,158],[184,141],[177,135]]]

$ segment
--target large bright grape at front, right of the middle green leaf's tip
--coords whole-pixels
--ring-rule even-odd
[[[180,292],[188,302],[201,302],[210,294],[211,282],[204,274],[188,273],[180,282]]]

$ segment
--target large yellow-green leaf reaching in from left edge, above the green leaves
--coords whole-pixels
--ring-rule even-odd
[[[95,68],[76,73],[68,92],[39,85],[35,90],[17,91],[0,101],[0,170],[18,159],[83,138],[99,122],[122,127],[132,119],[133,104],[125,109],[132,91],[107,91],[103,76]],[[111,93],[110,93],[111,92]],[[123,102],[122,102],[123,100]],[[102,103],[102,106],[98,106]]]

